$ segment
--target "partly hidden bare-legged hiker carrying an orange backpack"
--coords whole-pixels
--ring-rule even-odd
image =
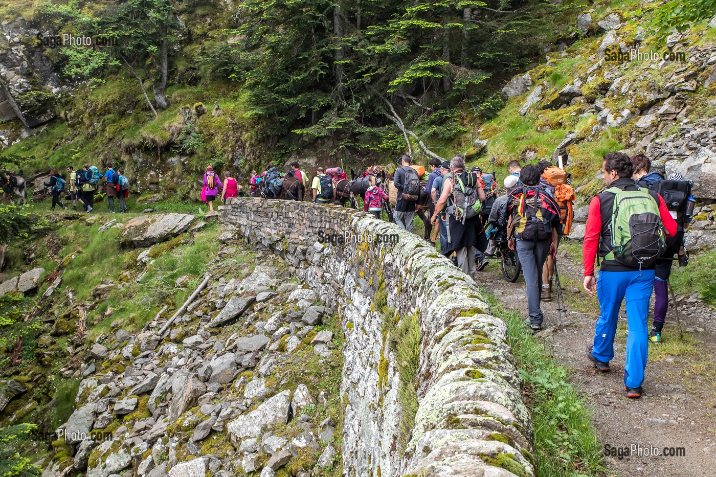
[[[571,186],[567,184],[567,173],[556,165],[551,165],[546,161],[540,161],[538,168],[541,170],[540,185],[546,188],[552,198],[559,206],[560,223],[562,225],[561,233],[558,239],[563,235],[569,235],[572,228],[572,220],[574,219],[574,201],[576,195]],[[559,245],[559,244],[558,244]],[[542,291],[540,299],[543,302],[552,301],[552,276],[554,275],[554,258],[547,256],[542,269]]]

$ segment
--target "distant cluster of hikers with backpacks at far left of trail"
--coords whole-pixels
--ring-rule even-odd
[[[62,202],[64,194],[65,198],[72,201],[72,210],[77,210],[79,202],[85,212],[92,212],[95,207],[95,194],[102,186],[105,186],[110,213],[117,212],[115,198],[119,201],[120,213],[127,211],[125,198],[129,196],[130,183],[121,168],[115,170],[110,165],[102,174],[96,165],[84,164],[77,170],[70,165],[67,166],[67,179],[62,177],[57,169],[52,169],[49,171],[49,180],[43,185],[49,188],[52,194],[50,211],[54,211],[55,206],[67,210],[68,207]]]

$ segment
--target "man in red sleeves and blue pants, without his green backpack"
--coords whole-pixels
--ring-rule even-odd
[[[637,191],[632,179],[632,161],[624,153],[604,155],[602,172],[609,188]],[[677,231],[676,221],[659,194],[649,191],[659,205],[659,216],[668,236]],[[647,315],[652,297],[654,265],[634,267],[613,259],[611,252],[611,219],[616,195],[606,191],[589,203],[589,216],[584,233],[584,289],[589,295],[597,292],[601,314],[596,321],[594,344],[587,348],[587,357],[603,372],[609,371],[614,357],[614,334],[619,320],[621,302],[626,298],[629,336],[627,337],[627,364],[624,366],[624,387],[627,397],[642,396],[644,370],[647,367],[648,334]],[[594,277],[594,259],[601,261],[599,281]],[[609,255],[609,256],[608,256]],[[610,259],[611,257],[611,259]]]

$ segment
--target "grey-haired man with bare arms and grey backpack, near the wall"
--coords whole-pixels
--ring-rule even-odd
[[[446,249],[441,249],[442,254],[449,255],[454,251],[460,269],[473,276],[475,256],[472,247],[478,244],[478,223],[485,192],[478,183],[477,175],[464,172],[465,159],[456,155],[450,161],[450,174],[443,178],[442,193],[430,222],[435,226],[440,213],[446,211],[448,245]]]

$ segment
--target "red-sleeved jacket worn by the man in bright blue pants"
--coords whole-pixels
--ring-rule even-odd
[[[632,179],[617,179],[611,184],[612,187],[626,186],[634,184]],[[667,236],[674,236],[677,233],[677,223],[672,218],[669,209],[662,196],[657,193],[652,195],[657,196],[659,199],[659,215],[661,215],[662,223],[667,231]],[[599,238],[604,234],[608,233],[606,224],[611,221],[611,211],[614,206],[614,194],[612,193],[601,193],[599,196],[594,196],[589,203],[589,215],[586,219],[586,231],[584,232],[584,248],[583,248],[583,259],[584,259],[584,276],[594,275],[594,261],[599,251]],[[609,210],[605,210],[608,208]],[[604,244],[604,248],[608,245]],[[606,271],[624,271],[629,269],[626,266],[619,266],[612,264],[614,261],[602,261],[601,269]],[[654,268],[654,266],[650,267]]]

